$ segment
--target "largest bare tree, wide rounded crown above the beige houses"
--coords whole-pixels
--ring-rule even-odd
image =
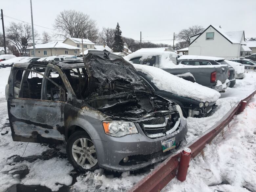
[[[97,34],[96,21],[81,11],[64,10],[55,18],[53,27],[58,35],[74,38],[95,38]],[[81,34],[83,33],[83,34]]]

